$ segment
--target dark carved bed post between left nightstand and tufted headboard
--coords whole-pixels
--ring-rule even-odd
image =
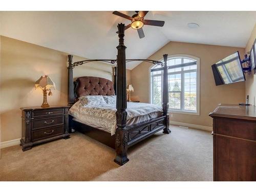
[[[72,59],[73,55],[68,55],[69,57],[69,67],[68,67],[68,103],[72,106],[75,102],[74,97],[74,83],[73,83],[73,67],[72,67]]]

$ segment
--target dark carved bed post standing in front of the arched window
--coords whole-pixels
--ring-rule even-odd
[[[163,67],[163,115],[166,115],[164,120],[164,124],[166,128],[164,128],[163,133],[169,134],[169,93],[168,93],[168,67],[167,67],[167,54],[163,55],[164,67]]]

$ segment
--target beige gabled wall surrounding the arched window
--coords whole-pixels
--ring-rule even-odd
[[[187,54],[200,58],[200,115],[185,115],[173,113],[171,120],[212,126],[208,114],[215,109],[218,103],[239,103],[245,101],[245,82],[215,86],[211,65],[220,59],[239,51],[244,55],[244,48],[189,44],[184,42],[169,42],[148,59],[160,60],[162,55]],[[149,69],[151,65],[142,62],[131,72],[132,84],[135,92],[134,100],[150,102],[149,100]]]

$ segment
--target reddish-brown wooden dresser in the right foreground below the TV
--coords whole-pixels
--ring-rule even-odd
[[[214,181],[256,181],[256,107],[219,104],[214,119]]]

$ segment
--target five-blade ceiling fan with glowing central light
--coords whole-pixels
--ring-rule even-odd
[[[130,27],[132,27],[133,29],[137,29],[140,38],[143,38],[145,36],[142,29],[143,25],[151,25],[151,26],[158,26],[158,27],[163,27],[164,25],[163,20],[144,19],[148,11],[135,11],[135,12],[136,14],[134,14],[133,16],[125,15],[118,11],[114,11],[113,14],[131,20],[132,23],[125,26],[124,30]]]

